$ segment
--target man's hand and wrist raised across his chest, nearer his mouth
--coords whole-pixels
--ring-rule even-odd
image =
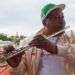
[[[53,43],[51,43],[41,35],[35,36],[34,39],[29,43],[29,45],[44,49],[52,54],[57,53],[57,46],[55,46]]]

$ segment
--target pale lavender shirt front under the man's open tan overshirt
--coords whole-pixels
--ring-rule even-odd
[[[53,43],[57,42],[57,38],[51,38]],[[60,49],[60,48],[59,48]],[[59,55],[43,55],[39,64],[38,75],[67,75],[66,68],[64,66],[64,57],[61,57],[64,52],[59,50]]]

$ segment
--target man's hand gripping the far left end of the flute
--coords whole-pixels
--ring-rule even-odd
[[[15,48],[12,45],[4,46],[4,54],[11,53],[14,50],[15,50]],[[11,57],[11,58],[7,59],[7,63],[11,67],[17,67],[19,65],[19,63],[21,62],[21,58],[22,58],[22,53],[20,53],[18,55],[15,55],[14,57]]]

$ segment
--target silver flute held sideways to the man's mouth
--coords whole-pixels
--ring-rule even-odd
[[[48,36],[48,37],[46,37],[44,35],[43,35],[43,37],[48,40],[49,38],[52,38],[52,37],[54,37],[54,36],[56,36],[56,35],[64,32],[68,28],[70,28],[70,26],[66,26],[64,29],[62,29],[62,30],[60,30],[60,31],[58,31],[58,32],[56,32],[56,33]],[[0,57],[0,63],[3,63],[3,62],[5,62],[8,59],[10,59],[10,58],[12,58],[12,57],[14,57],[14,56],[16,56],[16,55],[24,52],[24,51],[29,50],[29,48],[30,48],[30,46],[28,45],[28,46],[25,46],[25,47],[21,47],[19,49],[16,49],[15,51],[12,51],[11,53],[3,54],[3,56]]]

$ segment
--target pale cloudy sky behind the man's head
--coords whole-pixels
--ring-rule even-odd
[[[65,4],[66,25],[75,28],[75,0],[0,0],[0,33],[32,35],[43,26],[41,8],[47,3]]]

